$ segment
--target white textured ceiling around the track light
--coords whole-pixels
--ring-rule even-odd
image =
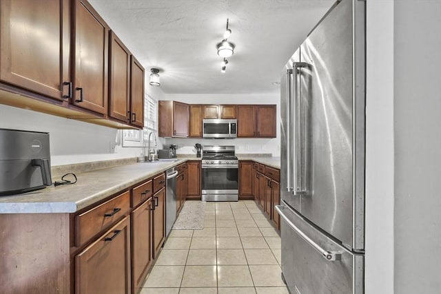
[[[89,0],[166,94],[278,92],[283,65],[334,0]],[[229,19],[225,73],[216,44]]]

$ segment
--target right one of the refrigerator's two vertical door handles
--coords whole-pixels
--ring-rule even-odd
[[[292,178],[294,179],[294,189],[292,190],[294,195],[303,195],[306,193],[305,185],[302,185],[302,148],[301,148],[301,138],[302,138],[302,99],[300,98],[300,80],[297,81],[300,76],[300,68],[309,66],[305,62],[294,62],[293,67],[293,103],[292,103],[292,114],[294,114],[294,169]]]

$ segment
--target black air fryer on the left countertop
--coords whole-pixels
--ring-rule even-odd
[[[0,196],[50,185],[49,134],[0,129]]]

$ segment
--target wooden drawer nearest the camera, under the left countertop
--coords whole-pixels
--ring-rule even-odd
[[[81,246],[97,233],[107,229],[127,215],[130,191],[75,217],[75,246]]]

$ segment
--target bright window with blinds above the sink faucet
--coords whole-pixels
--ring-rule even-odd
[[[124,129],[123,147],[146,147],[148,145],[149,134],[154,132],[158,138],[158,101],[149,95],[144,98],[144,128],[143,129]],[[157,140],[151,137],[150,146],[156,147]]]

